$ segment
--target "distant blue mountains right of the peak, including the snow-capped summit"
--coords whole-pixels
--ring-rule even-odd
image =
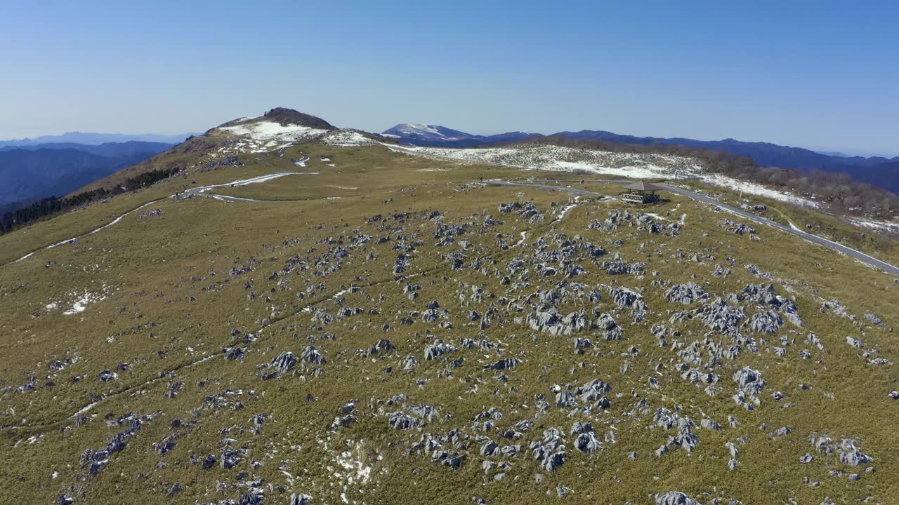
[[[513,131],[499,135],[472,135],[457,129],[438,125],[415,123],[398,124],[385,130],[382,135],[412,146],[429,147],[476,147],[519,142],[533,137],[544,137],[539,133]],[[862,157],[847,156],[842,153],[823,154],[802,147],[778,146],[768,142],[742,142],[733,138],[724,140],[697,140],[695,138],[635,137],[619,135],[610,131],[583,129],[581,131],[561,131],[555,135],[574,140],[594,139],[616,144],[636,144],[651,146],[664,144],[688,146],[724,151],[738,156],[748,156],[763,166],[778,166],[801,170],[822,170],[832,173],[847,173],[859,182],[869,182],[886,190],[899,193],[899,156]]]

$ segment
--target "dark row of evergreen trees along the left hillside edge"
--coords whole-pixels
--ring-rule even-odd
[[[61,199],[56,197],[41,199],[28,207],[4,213],[3,217],[0,217],[0,235],[9,233],[22,226],[30,225],[40,219],[57,215],[60,212],[65,212],[71,208],[78,208],[93,201],[109,198],[130,190],[138,190],[147,187],[155,182],[167,179],[180,171],[181,169],[176,167],[151,170],[131,177],[122,184],[111,189],[97,188],[95,190],[82,191],[70,197]]]

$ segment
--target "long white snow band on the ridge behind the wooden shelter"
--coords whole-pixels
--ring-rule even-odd
[[[720,173],[708,173],[694,158],[678,155],[612,153],[596,149],[563,146],[491,147],[449,149],[441,147],[387,146],[397,152],[434,158],[449,158],[518,168],[591,173],[633,179],[693,179],[730,190],[778,199],[795,205],[819,208],[811,199],[772,190],[756,182],[741,181]]]

